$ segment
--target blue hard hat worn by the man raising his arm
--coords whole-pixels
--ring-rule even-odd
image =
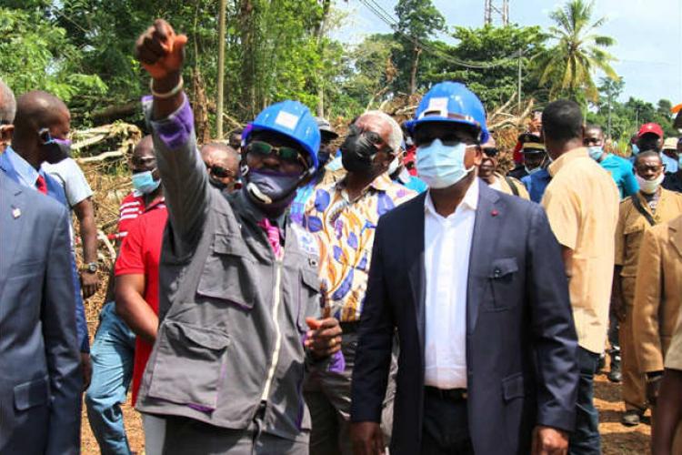
[[[308,153],[312,168],[317,168],[320,130],[310,110],[298,101],[287,99],[263,109],[245,128],[244,144],[255,131],[274,131],[294,139]]]

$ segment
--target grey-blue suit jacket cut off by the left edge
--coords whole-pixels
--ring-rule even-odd
[[[78,453],[68,213],[0,172],[0,453]]]

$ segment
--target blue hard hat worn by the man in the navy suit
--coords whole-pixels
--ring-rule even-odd
[[[426,122],[474,126],[481,132],[481,144],[486,143],[490,136],[486,126],[486,109],[481,100],[459,82],[446,81],[433,86],[416,108],[415,118],[406,122],[406,126],[414,133],[417,125]]]

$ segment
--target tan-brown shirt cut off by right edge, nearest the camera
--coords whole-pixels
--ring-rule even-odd
[[[637,263],[633,331],[639,369],[661,371],[682,304],[682,217],[644,233]]]

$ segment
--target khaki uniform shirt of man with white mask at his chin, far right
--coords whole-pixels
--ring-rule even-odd
[[[623,267],[620,272],[623,278],[637,276],[639,245],[642,243],[644,231],[651,227],[644,215],[635,208],[632,197],[639,199],[642,207],[654,218],[656,224],[666,223],[682,215],[682,194],[664,188],[661,188],[655,213],[651,211],[647,200],[639,192],[620,203],[616,227],[616,265]]]

